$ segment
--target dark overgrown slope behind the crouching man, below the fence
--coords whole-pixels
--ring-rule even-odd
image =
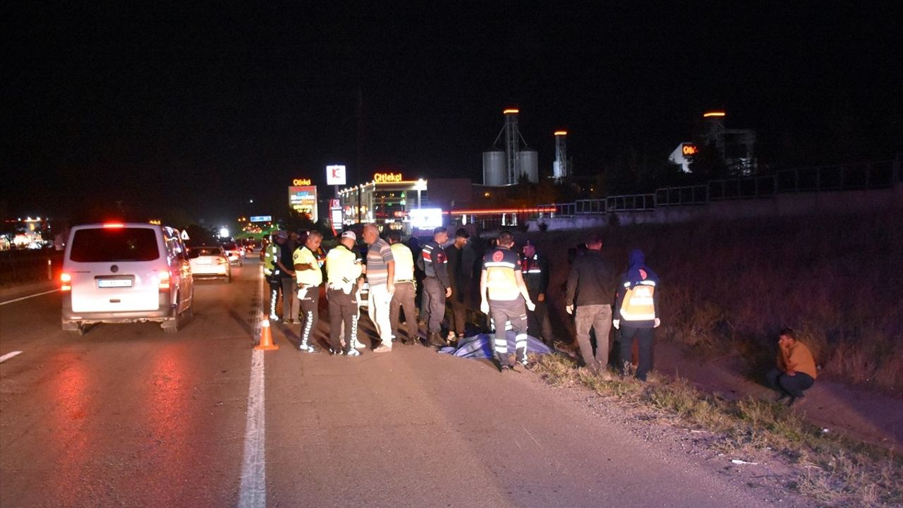
[[[567,248],[587,231],[531,234],[550,259],[562,302]],[[903,228],[897,214],[763,218],[602,230],[619,271],[643,249],[661,278],[657,340],[738,355],[744,374],[774,364],[777,332],[796,329],[820,375],[903,388]],[[566,326],[563,304],[552,311]],[[573,328],[571,330],[573,337]],[[711,354],[707,354],[711,356]]]

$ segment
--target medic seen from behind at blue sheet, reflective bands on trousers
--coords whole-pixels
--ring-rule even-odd
[[[479,310],[491,315],[496,323],[494,345],[501,371],[512,368],[507,354],[505,322],[511,323],[515,333],[517,362],[526,365],[526,310],[536,308],[524,284],[520,257],[512,247],[514,235],[510,231],[499,233],[496,247],[483,256],[483,270],[479,276]]]

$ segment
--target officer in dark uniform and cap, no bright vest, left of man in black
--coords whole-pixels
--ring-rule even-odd
[[[452,296],[452,283],[448,275],[448,257],[442,244],[449,240],[449,230],[442,226],[433,230],[433,241],[427,242],[417,258],[417,266],[424,270],[424,310],[429,343],[436,347],[445,345],[442,340],[442,317],[445,316],[445,298]]]

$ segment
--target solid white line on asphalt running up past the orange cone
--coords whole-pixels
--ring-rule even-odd
[[[254,334],[260,336],[263,320],[263,267],[255,292],[257,322]],[[245,426],[245,458],[241,465],[241,484],[238,487],[238,508],[266,506],[266,424],[264,392],[264,352],[251,352],[251,381],[247,389],[247,422]]]

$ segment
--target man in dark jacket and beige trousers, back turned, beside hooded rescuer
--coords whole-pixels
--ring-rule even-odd
[[[576,315],[574,326],[583,364],[604,371],[609,363],[609,332],[611,329],[611,298],[615,294],[615,272],[611,263],[602,258],[602,239],[590,233],[586,252],[573,260],[564,296],[565,310]],[[596,334],[596,354],[592,354],[590,329]]]

